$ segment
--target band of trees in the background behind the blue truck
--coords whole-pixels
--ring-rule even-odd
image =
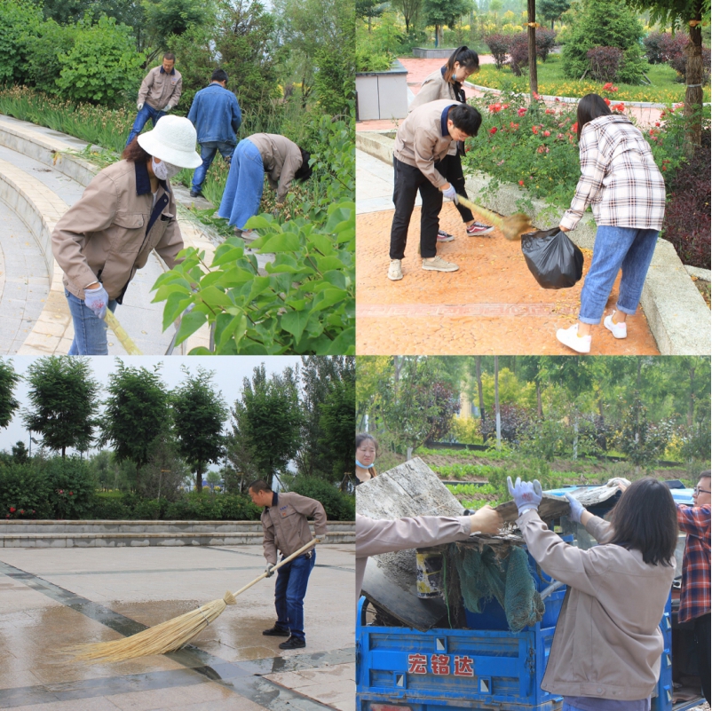
[[[709,359],[694,357],[363,358],[357,418],[408,456],[454,437],[549,460],[615,449],[648,466],[674,446],[707,461],[709,388]],[[455,421],[461,393],[476,404],[476,437]]]

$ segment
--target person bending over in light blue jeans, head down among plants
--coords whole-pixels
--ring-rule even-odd
[[[311,154],[284,136],[254,133],[244,138],[230,162],[218,217],[236,225],[235,233],[243,236],[245,224],[259,212],[265,173],[270,187],[277,191],[277,207],[273,213],[276,217],[284,207],[292,180],[311,177],[310,158]]]

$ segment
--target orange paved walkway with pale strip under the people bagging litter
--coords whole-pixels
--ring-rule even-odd
[[[356,348],[360,355],[385,353],[471,355],[572,353],[556,340],[578,314],[581,280],[574,288],[540,288],[529,273],[519,242],[498,230],[492,236],[467,237],[455,207],[447,203],[440,225],[455,241],[438,253],[455,262],[454,273],[425,272],[417,254],[420,208],[408,232],[403,280],[386,278],[392,210],[392,167],[356,153]],[[478,217],[486,221],[484,217]],[[591,252],[584,249],[584,277]],[[606,313],[613,310],[617,283]],[[592,354],[647,355],[658,350],[645,314],[629,320],[629,337],[617,341],[595,327]]]

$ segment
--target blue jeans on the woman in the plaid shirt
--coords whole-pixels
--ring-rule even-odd
[[[636,312],[656,241],[657,230],[598,226],[593,259],[581,289],[581,323],[600,322],[620,269],[623,274],[615,308],[623,313]]]

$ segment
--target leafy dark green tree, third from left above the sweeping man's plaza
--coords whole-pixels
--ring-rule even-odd
[[[170,423],[170,395],[159,375],[161,365],[151,371],[118,360],[116,372],[109,375],[99,445],[110,442],[116,461],[129,460],[137,469],[148,462],[151,443]]]

